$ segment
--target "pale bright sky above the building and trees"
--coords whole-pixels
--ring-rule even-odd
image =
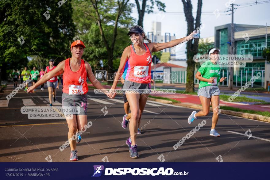
[[[131,0],[130,2],[135,4],[135,0]],[[176,38],[182,38],[187,35],[187,22],[184,15],[183,3],[181,0],[161,0],[161,2],[165,3],[166,8],[165,11],[167,13],[159,13],[159,10],[155,6],[154,12],[147,14],[144,16],[144,30],[145,33],[151,32],[152,29],[152,21],[161,22],[161,34],[171,33],[176,35]],[[197,0],[191,0],[193,5],[193,17],[196,17],[197,12]],[[228,2],[228,3],[227,3]],[[248,24],[248,25],[265,25],[267,23],[270,25],[270,1],[266,0],[257,0],[257,2],[261,2],[262,4],[255,4],[255,1],[252,0],[203,0],[202,6],[202,16],[201,23],[204,24],[204,28],[200,32],[200,37],[210,37],[214,36],[214,27],[224,24],[231,23],[231,15],[230,12],[224,12],[229,10],[226,7],[226,3],[229,4],[233,2],[234,4],[239,4],[240,6],[236,6],[237,9],[234,13],[234,23],[235,24]],[[267,3],[263,3],[267,2]],[[254,4],[246,4],[246,3],[254,3]],[[249,6],[253,5],[253,6]],[[215,10],[218,10],[220,13],[219,17],[213,13]],[[138,12],[137,7],[134,7],[131,15],[137,20]],[[203,26],[202,26],[203,27]],[[270,28],[269,28],[270,31]],[[179,48],[176,52],[176,58],[186,58],[185,48]]]

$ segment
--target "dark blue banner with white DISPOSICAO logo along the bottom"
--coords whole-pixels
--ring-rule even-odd
[[[269,179],[270,163],[0,163],[1,179]]]

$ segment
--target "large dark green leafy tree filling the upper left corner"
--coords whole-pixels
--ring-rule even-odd
[[[72,41],[75,26],[69,1],[4,0],[0,3],[0,65],[6,79],[8,69],[24,67],[27,57],[63,60]],[[46,13],[44,15],[44,13]],[[22,39],[20,37],[23,37]],[[20,38],[22,44],[17,40]],[[32,57],[31,57],[32,56]]]

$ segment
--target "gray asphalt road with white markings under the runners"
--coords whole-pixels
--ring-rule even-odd
[[[30,120],[21,113],[21,107],[48,106],[48,91],[27,94],[20,90],[10,101],[6,95],[13,89],[8,85],[0,94],[0,161],[1,162],[46,162],[51,157],[54,162],[68,162],[70,147],[60,151],[67,141],[65,120]],[[89,90],[88,121],[93,125],[82,135],[77,144],[79,162],[217,162],[221,155],[223,162],[269,162],[270,124],[230,115],[220,114],[216,130],[220,137],[209,136],[212,113],[200,117],[192,124],[187,118],[193,111],[174,105],[148,101],[143,113],[142,134],[137,136],[139,158],[129,157],[125,144],[129,130],[121,126],[124,115],[123,98],[114,100]],[[61,102],[61,90],[57,90],[56,101]],[[55,104],[57,105],[57,104]],[[59,103],[61,105],[61,103]],[[102,109],[107,107],[104,116]],[[206,120],[183,145],[174,150],[180,139],[195,126]],[[149,123],[147,123],[147,121]],[[250,130],[252,137],[245,136]],[[161,158],[160,158],[161,157]],[[220,156],[219,156],[220,157]]]

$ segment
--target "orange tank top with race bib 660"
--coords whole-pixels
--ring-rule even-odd
[[[128,81],[142,84],[151,82],[152,55],[147,44],[144,43],[144,45],[146,52],[141,56],[137,55],[135,49],[130,45],[129,67],[125,78]]]

